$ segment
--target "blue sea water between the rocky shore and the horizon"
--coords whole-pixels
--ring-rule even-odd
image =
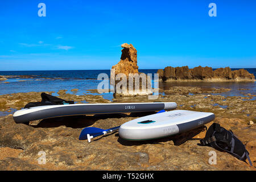
[[[240,69],[240,68],[237,68]],[[235,69],[232,69],[235,70]],[[256,76],[255,68],[246,68]],[[139,72],[148,74],[154,73],[158,69],[139,69]],[[106,73],[110,78],[110,70],[72,70],[72,71],[0,71],[0,75],[13,76],[7,80],[0,81],[0,95],[20,92],[55,92],[53,96],[58,96],[59,90],[79,89],[75,94],[98,94],[90,93],[89,89],[97,89],[102,80],[97,80],[100,73]],[[26,77],[20,77],[24,76]],[[4,83],[8,82],[8,83]],[[152,84],[154,86],[154,84]],[[229,92],[217,93],[222,96],[244,96],[245,94],[256,95],[255,82],[159,82],[159,88],[168,89],[171,86],[200,86],[203,88],[229,88]],[[242,90],[241,90],[242,89]],[[112,100],[112,93],[101,94],[105,99]],[[255,100],[255,97],[251,98]]]

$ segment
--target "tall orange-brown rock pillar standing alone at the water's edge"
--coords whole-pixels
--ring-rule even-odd
[[[122,55],[118,64],[112,67],[111,84],[114,86],[114,96],[148,95],[151,93],[150,79],[139,73],[137,65],[137,50],[132,44],[124,43],[121,46]],[[124,79],[124,77],[126,79]],[[140,78],[139,78],[140,77]],[[133,79],[133,81],[131,81]],[[130,80],[130,82],[129,82]],[[135,82],[135,81],[138,82]],[[135,86],[137,84],[137,87]],[[147,85],[149,84],[149,85]],[[129,88],[133,89],[129,89]]]

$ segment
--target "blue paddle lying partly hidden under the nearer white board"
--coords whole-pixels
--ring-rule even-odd
[[[165,110],[160,110],[158,113],[163,113]],[[158,114],[156,113],[156,114]],[[79,136],[79,140],[88,140],[90,142],[90,139],[98,137],[100,135],[108,134],[112,131],[118,130],[120,126],[112,127],[111,129],[103,130],[99,129],[98,127],[86,127],[81,131],[81,134]]]

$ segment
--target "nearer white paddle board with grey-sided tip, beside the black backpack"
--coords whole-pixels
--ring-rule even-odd
[[[147,115],[123,123],[119,136],[126,140],[148,140],[167,137],[195,129],[213,121],[213,113],[173,110]]]

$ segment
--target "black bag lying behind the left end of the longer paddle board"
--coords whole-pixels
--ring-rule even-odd
[[[74,104],[74,101],[65,101],[61,98],[51,96],[47,93],[41,94],[41,102],[30,102],[24,108],[36,107],[36,106],[46,106],[46,105],[62,105],[62,104]]]

